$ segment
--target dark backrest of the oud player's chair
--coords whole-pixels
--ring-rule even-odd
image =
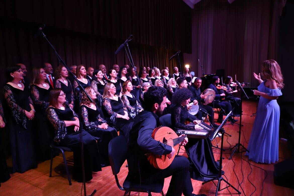
[[[113,175],[116,175],[121,170],[121,166],[127,158],[127,143],[126,138],[122,135],[110,140],[108,144],[108,157]]]

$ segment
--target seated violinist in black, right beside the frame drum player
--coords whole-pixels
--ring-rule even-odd
[[[232,105],[229,102],[226,101],[220,101],[221,98],[225,97],[225,93],[219,93],[216,86],[220,83],[220,78],[218,76],[213,76],[211,84],[208,86],[208,88],[213,89],[216,93],[216,97],[214,98],[213,103],[210,104],[212,106],[214,104],[215,108],[221,108],[225,111],[225,114],[228,114],[232,110]],[[234,120],[231,116],[229,117],[230,121],[233,123],[237,120]],[[221,123],[223,121],[223,111],[220,112],[218,115],[217,122]]]

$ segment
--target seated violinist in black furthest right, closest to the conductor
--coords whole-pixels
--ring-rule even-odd
[[[224,89],[223,93],[225,93],[225,100],[228,100],[230,102],[230,104],[232,105],[232,107],[235,108],[233,110],[234,116],[240,116],[240,114],[242,112],[241,111],[242,110],[241,109],[241,99],[238,97],[235,97],[235,95],[233,95],[233,93],[237,93],[238,90],[237,89],[233,90],[233,88],[236,88],[236,86],[232,87],[231,86],[232,84],[233,84],[233,78],[231,76],[227,76],[225,78],[225,81],[223,84],[225,87],[227,87],[227,90]],[[220,92],[222,92],[222,90],[220,90]]]

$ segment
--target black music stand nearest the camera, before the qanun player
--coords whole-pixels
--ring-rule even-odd
[[[217,130],[214,132],[214,134],[211,134],[209,136],[209,139],[210,140],[213,140],[216,137],[216,135],[218,134],[218,132],[222,133],[222,136],[224,135],[225,130],[223,129],[223,125],[225,125],[225,122],[228,120],[228,118],[231,115],[231,113],[232,113],[232,111],[230,111],[230,113],[228,113],[228,115],[225,117],[225,120],[223,120],[223,122],[220,124],[220,126],[217,128]],[[223,159],[225,159],[225,158],[223,158],[223,137],[221,137],[220,149],[221,149],[220,150],[220,160],[219,160],[220,165],[219,165],[219,169],[218,169],[218,177],[214,177],[211,180],[205,181],[205,182],[202,183],[202,185],[206,184],[207,182],[211,182],[213,180],[217,180],[218,181],[218,184],[217,185],[213,182],[213,184],[216,185],[216,196],[218,195],[218,191],[224,190],[225,188],[228,188],[228,187],[232,187],[240,195],[241,192],[238,191],[235,187],[233,187],[233,185],[231,185],[228,181],[226,181],[222,177],[221,167],[222,167]],[[226,186],[225,188],[220,189],[220,182],[221,181],[224,181],[225,183],[227,183],[228,186]]]

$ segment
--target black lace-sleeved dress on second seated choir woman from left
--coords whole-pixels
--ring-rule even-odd
[[[117,131],[115,128],[110,126],[108,126],[107,129],[98,128],[98,125],[106,123],[106,120],[101,118],[98,106],[95,105],[95,107],[96,110],[82,105],[81,117],[83,118],[83,127],[85,130],[94,137],[99,138],[98,148],[100,154],[100,163],[102,167],[106,167],[110,165],[108,158],[108,143],[117,136]]]

